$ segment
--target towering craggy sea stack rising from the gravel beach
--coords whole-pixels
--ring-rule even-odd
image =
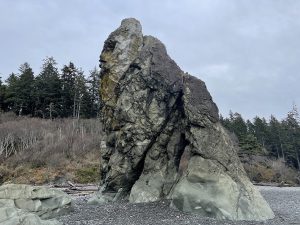
[[[205,83],[125,19],[100,56],[107,147],[92,202],[170,199],[186,212],[231,220],[274,214],[246,176]]]

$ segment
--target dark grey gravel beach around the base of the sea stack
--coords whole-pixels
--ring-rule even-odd
[[[166,201],[147,204],[129,204],[124,202],[91,206],[86,204],[88,196],[74,196],[74,212],[58,219],[65,225],[300,225],[299,187],[258,188],[276,214],[276,217],[272,220],[265,222],[217,221],[173,210],[169,208]]]

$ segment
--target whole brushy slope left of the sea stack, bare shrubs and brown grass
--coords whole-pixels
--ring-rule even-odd
[[[101,124],[0,116],[0,184],[97,182]]]

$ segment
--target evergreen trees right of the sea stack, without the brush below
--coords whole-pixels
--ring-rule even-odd
[[[266,155],[282,159],[289,166],[300,170],[300,120],[296,106],[286,118],[279,121],[256,116],[244,120],[239,113],[221,116],[221,123],[239,140],[240,154]]]

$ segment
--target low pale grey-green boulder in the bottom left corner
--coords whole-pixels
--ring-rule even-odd
[[[61,224],[51,219],[71,210],[71,198],[62,191],[22,184],[0,186],[3,224]],[[2,224],[2,223],[1,223]]]

